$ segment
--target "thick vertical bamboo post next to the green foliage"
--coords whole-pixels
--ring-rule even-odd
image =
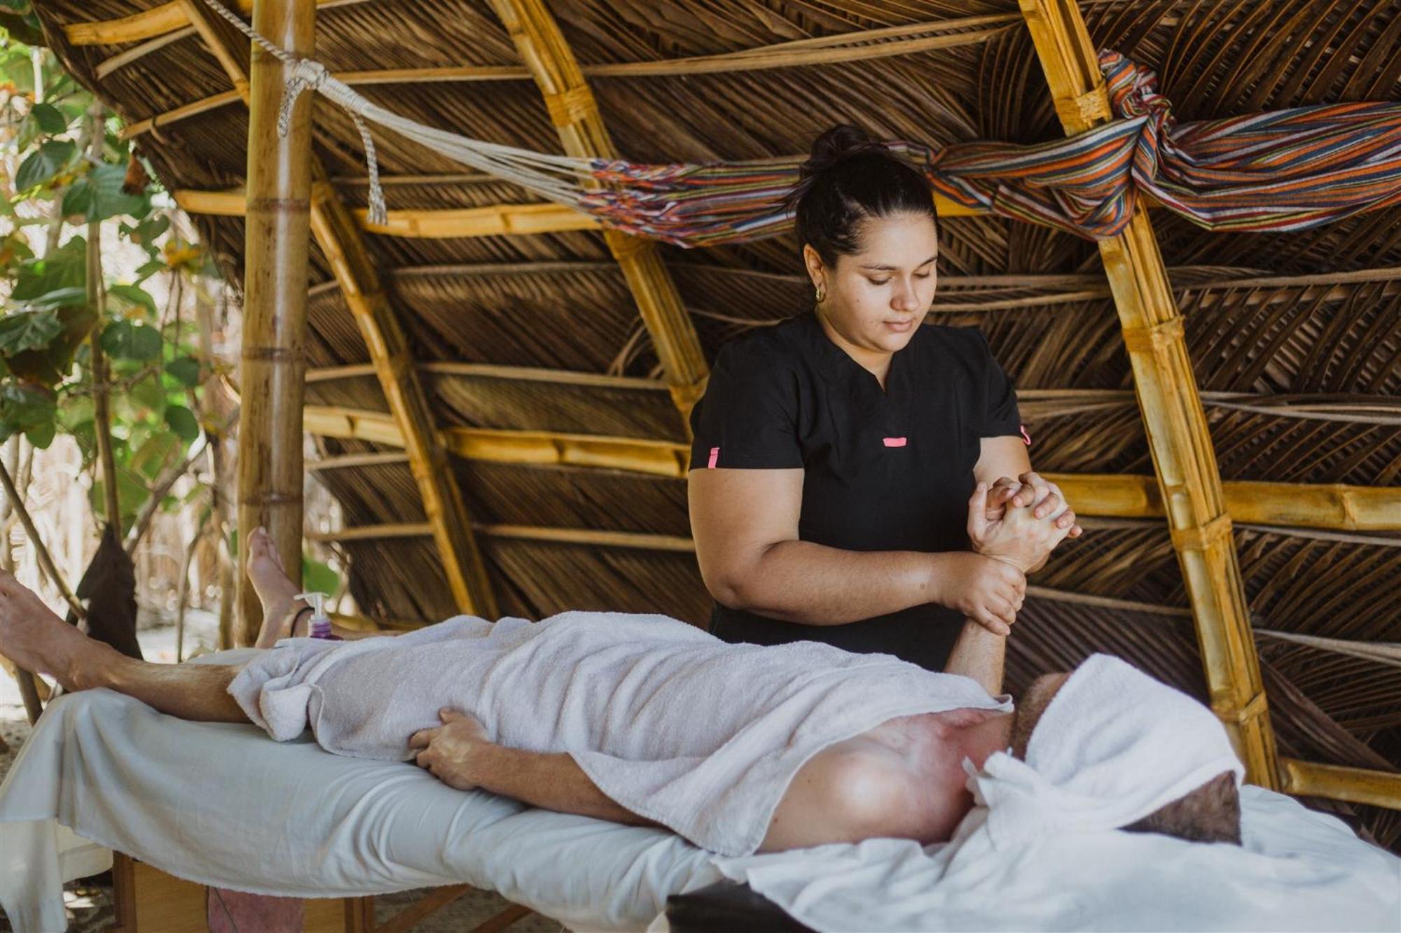
[[[254,29],[297,55],[311,55],[312,0],[258,0]],[[254,48],[248,104],[248,206],[238,429],[237,644],[258,636],[262,611],[244,566],[248,534],[263,525],[283,566],[301,580],[301,374],[307,328],[311,205],[311,95],[277,134],[283,66]]]

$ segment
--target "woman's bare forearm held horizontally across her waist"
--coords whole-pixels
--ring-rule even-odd
[[[939,602],[941,581],[951,570],[948,558],[782,541],[764,552],[743,581],[716,597],[731,608],[785,622],[845,625]]]

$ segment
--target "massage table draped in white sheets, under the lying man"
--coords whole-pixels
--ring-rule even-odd
[[[1244,850],[1112,832],[979,855],[974,811],[947,846],[870,839],[722,859],[661,829],[462,793],[408,763],[88,691],[50,705],[0,785],[0,904],[21,933],[63,929],[63,825],[132,856],[150,884],[346,899],[308,901],[308,930],[368,930],[359,898],[461,884],[587,930],[668,929],[672,895],[678,933],[715,929],[713,918],[740,929],[1401,930],[1401,859],[1281,794],[1245,787],[1243,803]],[[771,926],[769,901],[792,926]]]

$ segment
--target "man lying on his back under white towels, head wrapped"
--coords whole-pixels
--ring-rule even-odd
[[[1030,507],[1006,520],[1030,521],[1020,513]],[[249,548],[270,643],[296,587],[266,535]],[[168,665],[88,639],[0,572],[0,653],[70,691],[254,721],[279,740],[310,726],[335,754],[412,758],[461,790],[665,825],[722,855],[944,841],[974,806],[969,775],[995,766],[1033,782],[1033,796],[1070,800],[1070,811],[1091,801],[1104,828],[1240,839],[1241,769],[1205,707],[1096,656],[1034,681],[1010,713],[992,695],[1003,639],[971,621],[946,674],[584,612],[538,623],[460,616],[394,639],[290,639],[242,667]]]

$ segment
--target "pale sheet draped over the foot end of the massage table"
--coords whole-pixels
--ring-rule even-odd
[[[64,929],[57,824],[205,884],[346,897],[465,881],[573,929],[643,929],[668,894],[722,877],[661,829],[461,793],[109,691],[57,700],[0,785],[0,905],[22,933]]]

